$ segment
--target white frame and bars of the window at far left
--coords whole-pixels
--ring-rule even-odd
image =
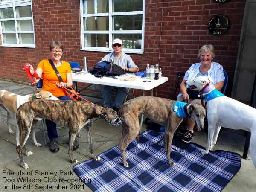
[[[16,17],[16,7],[20,6],[30,6],[31,7],[31,17],[22,17],[22,18],[17,18]],[[2,8],[13,8],[13,14],[14,18],[8,18],[8,19],[0,19],[0,21],[8,21],[8,20],[14,20],[15,23],[15,31],[2,31],[2,23],[0,22],[0,32],[1,32],[1,47],[26,47],[26,48],[35,48],[35,28],[34,28],[34,20],[33,20],[33,11],[32,11],[32,1],[31,0],[10,0],[10,2],[0,2],[0,9]],[[18,31],[17,28],[17,21],[18,20],[32,20],[32,27],[33,31]],[[3,34],[15,34],[16,35],[16,41],[17,44],[6,44],[3,42]],[[34,38],[34,44],[20,44],[19,43],[19,34],[21,33],[26,33],[26,34],[33,34]]]

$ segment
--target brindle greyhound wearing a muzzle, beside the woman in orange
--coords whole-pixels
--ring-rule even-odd
[[[70,139],[68,154],[71,163],[76,163],[76,159],[72,158],[73,144],[76,134],[85,126],[88,134],[88,143],[90,153],[94,160],[100,160],[99,157],[93,154],[93,143],[91,137],[91,128],[94,117],[108,118],[115,121],[118,118],[116,111],[110,108],[104,108],[83,101],[51,101],[51,100],[34,100],[26,102],[18,108],[16,113],[17,124],[19,126],[20,137],[16,150],[20,157],[20,165],[23,168],[28,168],[28,165],[23,161],[23,150],[26,155],[32,154],[31,151],[26,151],[26,141],[30,131],[37,124],[38,119],[49,119],[55,123],[69,127]]]

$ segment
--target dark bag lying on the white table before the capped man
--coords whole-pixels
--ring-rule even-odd
[[[113,64],[108,61],[103,61],[103,62],[96,63],[93,69],[90,70],[90,73],[96,77],[102,77],[102,76],[120,76],[122,74],[125,74],[126,72],[116,64]]]

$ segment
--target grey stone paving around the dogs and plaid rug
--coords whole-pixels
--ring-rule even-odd
[[[9,90],[13,93],[25,95],[34,91],[33,87],[12,82],[0,81],[0,90]],[[90,98],[92,100],[92,98]],[[93,102],[101,102],[92,100]],[[42,147],[35,147],[32,144],[31,138],[27,142],[29,151],[34,154],[29,157],[24,157],[24,160],[29,165],[29,169],[20,167],[19,158],[15,151],[15,134],[8,133],[6,125],[6,112],[1,111],[2,121],[0,123],[0,191],[1,192],[41,192],[41,191],[91,191],[86,185],[83,185],[78,180],[78,177],[72,171],[73,165],[69,162],[67,154],[68,147],[68,130],[62,129],[58,133],[60,135],[60,151],[51,153],[47,146],[44,145],[44,137],[42,126],[38,125],[36,137]],[[12,120],[15,125],[15,121]],[[145,129],[145,125],[143,125]],[[16,133],[15,126],[12,126]],[[87,145],[85,131],[81,131],[79,139],[80,147],[73,152],[73,157],[76,157],[79,162],[90,158],[90,152]],[[93,124],[93,145],[95,154],[101,154],[104,151],[117,145],[121,135],[121,127],[113,127],[103,121],[96,119]],[[206,145],[207,138],[205,131],[195,133],[195,143]],[[237,152],[242,155],[244,146],[244,137],[241,133],[233,133],[232,131],[222,131],[220,140],[215,149]],[[255,149],[253,149],[255,150]],[[40,173],[39,173],[40,171]],[[50,172],[56,172],[56,175],[49,175]],[[15,174],[15,175],[14,175]],[[21,181],[21,177],[25,180]],[[93,178],[92,178],[93,179]],[[76,185],[72,185],[76,184]],[[80,186],[81,185],[81,186]],[[57,190],[48,190],[48,186],[58,186]],[[71,187],[73,187],[71,189]],[[80,187],[80,189],[78,189]],[[62,188],[62,189],[61,189]],[[66,188],[66,189],[65,189]],[[223,192],[255,192],[256,191],[256,169],[250,157],[247,160],[242,159],[242,165],[237,175],[230,181]]]

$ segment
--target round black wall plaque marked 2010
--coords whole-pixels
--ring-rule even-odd
[[[213,35],[223,35],[227,32],[229,27],[229,20],[223,14],[214,15],[208,23],[209,32]]]

